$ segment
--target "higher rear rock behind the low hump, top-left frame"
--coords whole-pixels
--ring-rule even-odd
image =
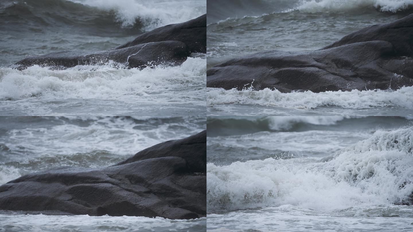
[[[134,40],[114,49],[131,47],[137,44],[178,40],[188,45],[190,52],[207,52],[207,14],[180,24],[170,24],[143,33]]]

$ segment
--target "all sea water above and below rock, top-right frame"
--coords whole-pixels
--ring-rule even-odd
[[[264,50],[312,51],[413,13],[411,0],[211,0],[207,69]],[[258,77],[257,77],[258,78]],[[208,115],[411,115],[413,88],[351,92],[207,88]]]

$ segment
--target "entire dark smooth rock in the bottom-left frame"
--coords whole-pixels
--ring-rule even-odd
[[[206,215],[206,132],[157,144],[115,166],[62,167],[0,186],[0,209],[170,219]]]

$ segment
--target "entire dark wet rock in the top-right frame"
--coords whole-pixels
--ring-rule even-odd
[[[207,70],[207,87],[241,90],[397,89],[413,85],[413,14],[312,52],[266,51]]]

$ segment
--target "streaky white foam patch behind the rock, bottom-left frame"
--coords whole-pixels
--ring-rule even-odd
[[[65,122],[69,118],[69,122]],[[142,123],[123,117],[72,117],[56,118],[57,125],[28,126],[12,129],[0,140],[17,153],[36,156],[63,156],[104,150],[117,156],[132,156],[142,149],[167,140],[188,137],[203,130],[202,118],[157,122],[156,118]],[[72,123],[71,121],[85,121]],[[171,131],[171,127],[177,127]],[[74,146],[76,144],[76,146]],[[119,144],[122,144],[119,146]],[[24,150],[21,150],[21,148]],[[16,157],[17,160],[23,157]],[[97,157],[98,158],[98,157]]]

